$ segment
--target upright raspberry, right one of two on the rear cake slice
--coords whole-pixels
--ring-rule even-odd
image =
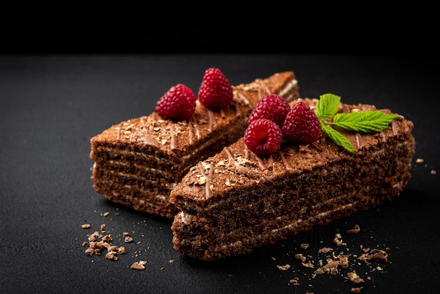
[[[208,68],[205,70],[198,96],[202,106],[209,110],[224,109],[233,99],[231,83],[218,68]]]

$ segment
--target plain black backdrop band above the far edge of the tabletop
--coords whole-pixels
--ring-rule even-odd
[[[437,54],[436,9],[267,4],[4,4],[0,53]]]

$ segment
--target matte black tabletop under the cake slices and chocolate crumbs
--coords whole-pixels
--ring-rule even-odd
[[[432,56],[0,56],[0,293],[349,293],[356,286],[344,279],[349,271],[365,279],[361,293],[434,293],[440,286],[440,175],[431,174],[440,169],[438,66]],[[115,205],[93,190],[89,140],[148,115],[174,84],[198,89],[209,67],[232,84],[293,70],[303,97],[330,92],[344,103],[404,115],[415,124],[413,178],[377,210],[253,254],[219,262],[182,257],[172,248],[169,220]],[[84,223],[91,229],[82,229]],[[114,245],[127,248],[117,261],[84,253],[87,234],[101,224]],[[361,232],[345,234],[355,224]],[[133,243],[124,243],[124,231]],[[332,243],[337,233],[347,245]],[[303,250],[302,243],[310,247]],[[358,263],[360,245],[387,251],[388,262]],[[351,254],[351,269],[313,276],[295,260],[303,253],[318,262],[323,247]],[[139,260],[147,262],[145,271],[130,269]],[[284,264],[290,269],[277,269]],[[289,283],[295,277],[299,286]]]

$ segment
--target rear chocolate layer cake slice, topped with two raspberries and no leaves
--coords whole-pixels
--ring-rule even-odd
[[[198,101],[189,120],[151,113],[115,124],[91,138],[93,188],[115,203],[172,218],[178,210],[169,193],[190,167],[242,137],[262,96],[292,101],[298,89],[294,72],[279,72],[233,87],[233,102],[220,111]]]

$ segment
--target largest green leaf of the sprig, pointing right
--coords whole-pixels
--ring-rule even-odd
[[[338,113],[333,117],[333,122],[338,127],[351,132],[373,133],[382,132],[397,115],[382,113],[378,110],[365,110],[354,113]]]

